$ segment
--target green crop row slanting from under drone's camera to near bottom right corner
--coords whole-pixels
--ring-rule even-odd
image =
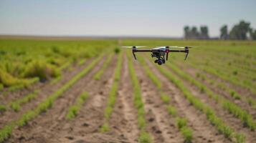
[[[224,134],[224,137],[234,142],[240,142],[240,143],[245,142],[244,134],[237,133],[234,131],[234,129],[227,126],[222,121],[222,119],[217,117],[217,115],[215,114],[214,110],[211,107],[209,107],[207,104],[204,104],[203,102],[201,102],[199,98],[191,94],[189,89],[187,89],[187,87],[184,85],[184,83],[180,79],[174,77],[174,74],[172,74],[170,71],[166,71],[166,69],[164,69],[162,66],[157,66],[157,67],[165,77],[167,77],[172,83],[175,84],[176,87],[178,87],[181,90],[181,92],[183,92],[184,97],[186,97],[186,99],[188,99],[188,101],[196,109],[198,109],[199,111],[207,115],[207,119],[209,120],[209,122],[215,127],[217,127],[218,131],[221,134]]]

